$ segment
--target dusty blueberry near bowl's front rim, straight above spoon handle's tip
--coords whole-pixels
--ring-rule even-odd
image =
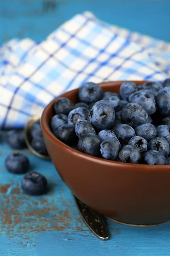
[[[100,152],[105,159],[114,160],[119,153],[119,149],[120,143],[117,138],[108,138],[100,145]]]

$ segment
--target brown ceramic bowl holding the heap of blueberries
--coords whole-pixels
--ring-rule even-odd
[[[142,84],[142,81],[134,81]],[[100,84],[119,92],[122,81]],[[78,90],[62,94],[78,102]],[[170,166],[118,163],[81,153],[50,131],[54,99],[44,110],[42,130],[48,153],[65,184],[97,212],[126,224],[154,225],[170,220]]]

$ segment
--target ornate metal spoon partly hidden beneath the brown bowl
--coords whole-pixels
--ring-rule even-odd
[[[34,148],[31,147],[31,128],[34,122],[38,121],[40,117],[33,116],[31,117],[24,129],[24,135],[26,140],[26,145],[31,150],[33,154],[35,154],[38,157],[41,157],[43,159],[49,159],[48,155],[42,155],[37,153],[37,151],[34,150]],[[87,205],[85,205],[82,201],[80,201],[75,195],[73,195],[77,209],[79,211],[80,216],[82,217],[82,220],[85,222],[85,224],[90,228],[90,230],[100,239],[106,240],[109,238],[108,229],[105,224],[105,220],[99,213],[95,212],[91,208],[89,208]]]

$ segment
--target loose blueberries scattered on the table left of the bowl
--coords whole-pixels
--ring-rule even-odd
[[[31,133],[33,134],[32,144],[34,143],[34,149],[37,149],[39,152],[46,152],[45,143],[42,140],[40,122],[36,122],[33,125]],[[26,148],[24,131],[9,131],[7,134],[7,143],[13,149]],[[28,157],[26,157],[24,154],[15,152],[6,158],[5,166],[8,172],[13,174],[25,174],[29,171],[30,162]],[[38,172],[30,172],[21,180],[21,188],[28,195],[42,195],[47,191],[47,180]]]

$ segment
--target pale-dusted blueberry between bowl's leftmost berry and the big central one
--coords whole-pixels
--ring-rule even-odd
[[[88,113],[89,113],[89,110],[87,108],[83,108],[83,107],[74,108],[68,114],[68,124],[75,125],[80,120],[88,119]]]

